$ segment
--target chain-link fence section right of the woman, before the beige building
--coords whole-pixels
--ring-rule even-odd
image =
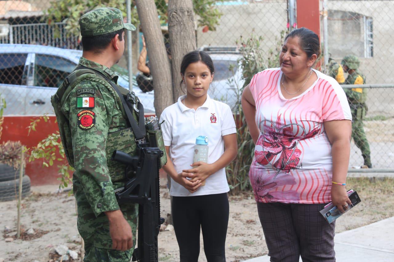
[[[353,67],[357,67],[355,73],[364,79],[362,88],[342,85],[347,87],[353,116],[349,166],[372,164],[374,170],[392,171],[394,79],[390,64],[394,48],[390,41],[394,29],[390,10],[394,8],[394,2],[328,0],[326,3],[327,23],[324,24],[322,19],[322,28],[327,26],[328,53],[338,63],[347,55],[357,56],[359,66]],[[343,84],[353,84],[354,79]]]

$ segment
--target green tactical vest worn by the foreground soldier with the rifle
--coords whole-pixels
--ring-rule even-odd
[[[82,68],[82,69],[80,69]],[[60,133],[60,138],[61,142],[63,144],[64,152],[67,158],[67,161],[69,162],[70,166],[74,167],[74,153],[72,151],[72,137],[71,137],[71,129],[70,129],[70,124],[69,120],[67,117],[63,114],[61,111],[61,106],[63,105],[65,99],[67,98],[67,95],[78,85],[80,82],[86,80],[86,79],[91,79],[91,77],[96,76],[101,80],[104,80],[106,83],[110,84],[112,86],[109,87],[108,85],[105,85],[110,92],[112,92],[117,100],[117,103],[119,105],[119,108],[122,111],[123,116],[125,119],[128,119],[129,125],[133,125],[130,122],[134,120],[134,128],[129,127],[126,129],[121,129],[119,131],[115,131],[112,133],[108,133],[107,140],[106,140],[106,154],[107,154],[107,166],[109,170],[110,177],[112,181],[120,181],[125,178],[125,165],[120,164],[119,162],[115,162],[111,160],[112,152],[114,150],[121,150],[129,155],[136,155],[136,140],[141,139],[145,137],[145,121],[144,121],[144,116],[143,116],[143,108],[142,112],[139,111],[139,114],[137,114],[137,110],[132,110],[132,113],[130,109],[125,108],[125,97],[126,99],[129,99],[130,97],[130,92],[123,87],[120,87],[119,85],[116,85],[111,81],[110,79],[104,77],[100,72],[97,72],[91,68],[87,68],[85,66],[78,66],[73,72],[71,72],[66,79],[63,81],[61,86],[59,87],[58,91],[56,94],[54,94],[51,97],[51,103],[54,108],[55,114],[56,114],[56,119],[58,121],[58,126],[59,126],[59,133]],[[116,92],[115,92],[116,91]],[[132,93],[134,94],[134,93]],[[130,106],[131,102],[128,101],[127,103]],[[134,108],[135,105],[138,103],[138,97],[135,96],[134,94]],[[142,107],[142,105],[141,105]],[[141,108],[140,108],[141,109]],[[133,118],[130,121],[130,117]],[[139,120],[139,124],[136,127],[136,120]],[[136,130],[141,127],[141,130]],[[133,131],[135,130],[135,131]],[[138,139],[136,139],[136,136],[139,136]]]

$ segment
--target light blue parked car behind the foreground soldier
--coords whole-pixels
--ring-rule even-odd
[[[50,97],[82,56],[81,50],[32,44],[0,44],[0,94],[6,98],[4,115],[54,114]],[[118,84],[128,89],[127,69],[111,68]],[[133,91],[144,104],[145,113],[154,113],[153,92]]]

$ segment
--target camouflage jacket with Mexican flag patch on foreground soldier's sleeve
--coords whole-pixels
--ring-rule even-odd
[[[117,83],[118,76],[106,66],[84,57],[80,58],[80,65],[94,68]],[[70,124],[74,180],[80,183],[94,214],[99,216],[104,211],[119,209],[105,149],[108,133],[125,129],[127,122],[123,107],[117,103],[120,98],[111,85],[89,75],[67,95],[61,111]]]

